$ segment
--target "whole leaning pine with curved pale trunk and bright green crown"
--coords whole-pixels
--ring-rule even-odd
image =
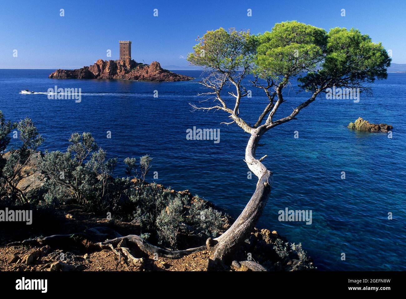
[[[266,156],[255,157],[262,135],[296,119],[300,110],[333,86],[359,88],[370,94],[367,84],[387,78],[391,59],[380,43],[373,43],[368,35],[356,29],[333,28],[327,33],[296,21],[275,24],[271,32],[261,35],[220,28],[207,31],[197,41],[188,61],[206,70],[201,84],[209,91],[200,95],[214,98],[214,105],[191,105],[194,110],[226,112],[230,119],[226,124],[235,123],[250,135],[244,162],[258,177],[255,193],[240,216],[214,239],[214,262],[209,265],[215,265],[225,262],[253,231],[270,196],[273,179],[272,172],[262,163]],[[246,78],[249,74],[253,75],[251,81]],[[289,115],[275,118],[285,101],[283,90],[292,84],[292,79],[309,93],[309,98]],[[263,90],[269,100],[263,111],[258,111],[253,125],[240,116],[240,102],[249,92],[247,84]]]

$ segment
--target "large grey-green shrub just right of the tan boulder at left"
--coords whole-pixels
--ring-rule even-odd
[[[46,152],[41,170],[49,180],[45,189],[48,203],[71,199],[93,210],[119,209],[118,203],[130,186],[128,178],[114,178],[117,158],[107,159],[90,133],[73,133],[67,151]]]

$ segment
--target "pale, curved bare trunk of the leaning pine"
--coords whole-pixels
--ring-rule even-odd
[[[261,163],[261,159],[255,158],[259,139],[264,132],[264,127],[253,129],[245,150],[245,162],[248,168],[258,177],[257,188],[233,225],[224,234],[214,239],[218,241],[218,244],[214,248],[214,264],[224,262],[238,245],[244,242],[251,231],[253,231],[268,201],[273,182],[272,172],[266,169]]]

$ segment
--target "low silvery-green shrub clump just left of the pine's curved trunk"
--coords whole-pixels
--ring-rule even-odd
[[[134,218],[142,229],[156,232],[158,242],[177,247],[177,236],[183,229],[192,228],[201,238],[216,237],[224,229],[226,218],[207,202],[175,194],[155,183],[139,183],[129,190],[134,204]],[[188,231],[190,233],[190,231]]]

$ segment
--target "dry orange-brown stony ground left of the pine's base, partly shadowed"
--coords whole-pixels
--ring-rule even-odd
[[[209,251],[192,253],[180,259],[157,258],[145,254],[136,256],[133,253],[135,258],[143,258],[140,262],[133,262],[110,250],[85,253],[49,246],[6,246],[10,242],[39,236],[73,234],[92,227],[107,227],[123,236],[140,234],[137,225],[98,218],[75,205],[61,207],[52,215],[45,213],[41,215],[41,219],[40,223],[32,223],[30,226],[0,228],[0,271],[205,271],[207,267]]]

